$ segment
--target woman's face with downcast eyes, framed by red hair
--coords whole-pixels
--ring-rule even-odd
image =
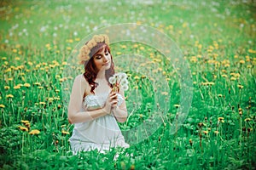
[[[108,52],[108,48],[103,48],[102,51],[94,56],[94,63],[97,71],[106,71],[111,66],[111,55]]]

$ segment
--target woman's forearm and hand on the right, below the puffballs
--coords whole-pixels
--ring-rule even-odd
[[[125,122],[126,118],[128,116],[127,114],[127,109],[126,109],[126,104],[125,104],[125,94],[124,91],[120,91],[121,96],[123,97],[124,101],[121,105],[116,106],[112,109],[113,115],[117,119],[118,122]]]

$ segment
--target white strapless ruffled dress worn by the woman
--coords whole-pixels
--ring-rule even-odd
[[[101,96],[87,95],[83,101],[81,111],[92,111],[102,107],[108,98],[108,94]],[[124,99],[118,94],[118,105],[121,105]],[[90,122],[75,123],[73,128],[73,135],[69,139],[71,149],[74,154],[79,151],[109,150],[110,147],[129,147],[125,143],[125,139],[120,132],[119,126],[116,122],[113,113],[99,117]]]

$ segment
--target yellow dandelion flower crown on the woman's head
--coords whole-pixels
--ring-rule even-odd
[[[84,62],[90,59],[90,50],[96,47],[96,44],[99,42],[104,42],[109,45],[109,38],[106,34],[99,34],[93,36],[89,42],[86,42],[85,45],[80,49],[79,53],[79,63],[84,64]]]

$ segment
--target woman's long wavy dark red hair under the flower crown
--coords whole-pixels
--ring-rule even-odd
[[[90,93],[91,94],[95,94],[94,89],[98,86],[98,83],[95,82],[98,71],[97,71],[96,65],[94,63],[94,56],[97,53],[101,52],[103,48],[105,48],[105,53],[108,50],[108,53],[111,55],[110,68],[107,71],[105,71],[106,80],[108,81],[109,77],[112,77],[114,74],[113,57],[110,52],[110,48],[109,48],[108,44],[106,44],[104,42],[97,43],[96,46],[94,48],[91,48],[91,50],[90,50],[90,54],[89,54],[90,59],[88,61],[84,62],[84,78],[90,84],[90,87],[91,87]],[[108,85],[110,88],[113,88],[113,85],[110,84],[109,82],[108,82]]]

